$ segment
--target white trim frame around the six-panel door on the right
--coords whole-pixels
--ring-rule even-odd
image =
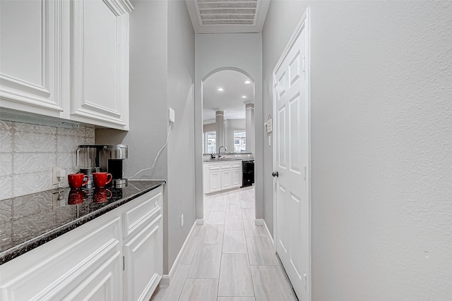
[[[307,88],[306,88],[306,99],[307,99],[307,129],[308,129],[308,145],[307,145],[307,156],[308,156],[308,164],[306,168],[306,180],[307,180],[307,198],[308,198],[308,205],[309,205],[309,221],[308,221],[308,233],[309,233],[309,279],[307,279],[307,300],[311,301],[311,280],[312,280],[312,266],[311,266],[311,257],[312,257],[312,250],[311,250],[311,235],[312,235],[312,229],[311,229],[311,28],[309,25],[310,22],[310,10],[309,7],[304,11],[304,14],[302,16],[302,19],[299,21],[294,33],[292,34],[292,37],[290,37],[289,42],[287,42],[287,45],[283,51],[283,54],[281,54],[280,59],[278,60],[278,63],[276,63],[275,68],[273,68],[272,72],[272,80],[273,80],[273,116],[275,116],[276,113],[276,78],[275,78],[275,72],[280,68],[281,64],[289,54],[290,49],[292,49],[292,46],[297,41],[297,38],[302,33],[302,30],[306,30],[306,59],[305,59],[305,70],[307,75]],[[276,129],[276,127],[275,127]],[[273,171],[276,170],[276,143],[275,143],[275,136],[273,135]],[[277,185],[276,181],[273,180],[273,238],[276,242],[278,240],[278,222],[277,222]],[[276,251],[276,243],[273,243],[273,248]]]

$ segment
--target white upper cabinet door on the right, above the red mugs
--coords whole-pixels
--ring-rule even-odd
[[[129,129],[130,11],[124,0],[71,1],[72,120]]]

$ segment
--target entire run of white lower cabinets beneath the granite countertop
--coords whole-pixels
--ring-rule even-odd
[[[149,300],[162,250],[160,186],[2,264],[0,299]]]

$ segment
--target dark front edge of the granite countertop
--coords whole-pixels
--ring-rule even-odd
[[[54,238],[57,238],[64,233],[68,233],[69,231],[83,225],[84,223],[88,223],[88,221],[93,221],[93,219],[102,216],[103,214],[106,214],[107,212],[112,211],[113,209],[116,209],[117,207],[130,202],[132,199],[136,199],[137,197],[140,197],[141,195],[144,195],[145,193],[150,192],[151,190],[154,190],[155,188],[158,188],[165,183],[165,180],[161,180],[159,183],[155,183],[149,188],[137,192],[136,195],[132,195],[131,197],[126,197],[124,199],[119,199],[116,202],[102,207],[99,210],[93,211],[90,214],[82,216],[75,221],[66,223],[66,225],[59,226],[58,228],[39,235],[32,240],[23,242],[20,245],[16,245],[15,247],[11,247],[11,249],[0,253],[0,265],[15,259],[16,257],[19,257],[20,255],[25,254],[26,252],[31,251],[36,247],[39,247],[40,245],[44,245],[44,243],[49,242],[50,240],[53,240]]]

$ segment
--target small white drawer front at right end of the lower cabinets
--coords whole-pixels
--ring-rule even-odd
[[[161,189],[156,189],[153,195],[142,195],[133,200],[136,206],[122,214],[124,219],[122,235],[124,238],[140,231],[143,226],[162,213],[161,191]]]

